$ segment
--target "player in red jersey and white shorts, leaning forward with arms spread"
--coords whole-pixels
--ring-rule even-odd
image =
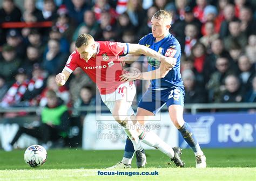
[[[134,115],[131,105],[136,95],[136,87],[132,81],[120,81],[119,76],[123,74],[123,68],[119,61],[119,55],[144,54],[148,57],[158,57],[167,68],[172,68],[176,61],[166,58],[144,45],[95,41],[90,34],[85,33],[80,34],[75,46],[76,50],[71,53],[62,73],[56,75],[57,85],[63,86],[77,67],[82,68],[96,83],[103,102],[110,109],[114,119],[121,124],[127,136],[130,137],[136,157],[143,157],[146,162],[137,131],[131,127],[133,124],[131,116]]]

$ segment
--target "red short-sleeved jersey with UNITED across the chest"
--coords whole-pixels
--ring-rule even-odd
[[[87,62],[80,58],[77,51],[73,51],[66,62],[65,70],[72,73],[77,67],[90,76],[96,83],[100,94],[110,94],[122,84],[119,76],[122,75],[122,65],[119,55],[128,54],[128,44],[111,41],[96,41],[97,55]]]

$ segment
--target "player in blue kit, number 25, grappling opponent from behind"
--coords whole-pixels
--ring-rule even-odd
[[[165,57],[177,59],[176,65],[172,69],[169,69],[164,64],[161,64],[160,61],[148,58],[148,72],[143,72],[136,77],[132,73],[126,73],[122,75],[122,80],[151,80],[149,89],[139,101],[136,114],[137,120],[145,120],[146,116],[156,115],[166,105],[174,126],[176,126],[185,141],[194,151],[196,168],[206,168],[206,157],[203,151],[201,151],[191,127],[183,119],[185,93],[180,74],[181,48],[178,40],[169,33],[171,20],[172,16],[169,12],[165,10],[157,11],[151,19],[152,33],[140,39],[139,44],[150,47],[160,54],[165,55]],[[133,57],[134,55],[126,55],[125,60],[128,61],[130,59],[131,61]],[[140,121],[140,123],[144,123],[144,121]],[[147,137],[147,133],[144,131],[140,132],[139,135],[141,140]],[[148,137],[147,140],[149,139],[153,140],[154,137]],[[125,168],[127,163],[130,164],[134,152],[132,148],[131,141],[127,139],[122,162],[112,166],[112,168]]]

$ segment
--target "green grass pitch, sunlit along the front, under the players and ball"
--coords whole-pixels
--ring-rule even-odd
[[[176,168],[158,150],[146,150],[147,168],[118,170],[125,172],[157,171],[157,176],[98,176],[98,171],[122,159],[122,150],[85,151],[80,149],[48,150],[48,160],[41,168],[24,163],[25,150],[0,151],[2,180],[256,180],[256,148],[204,149],[206,169],[195,169],[192,150],[183,150],[186,168]]]

